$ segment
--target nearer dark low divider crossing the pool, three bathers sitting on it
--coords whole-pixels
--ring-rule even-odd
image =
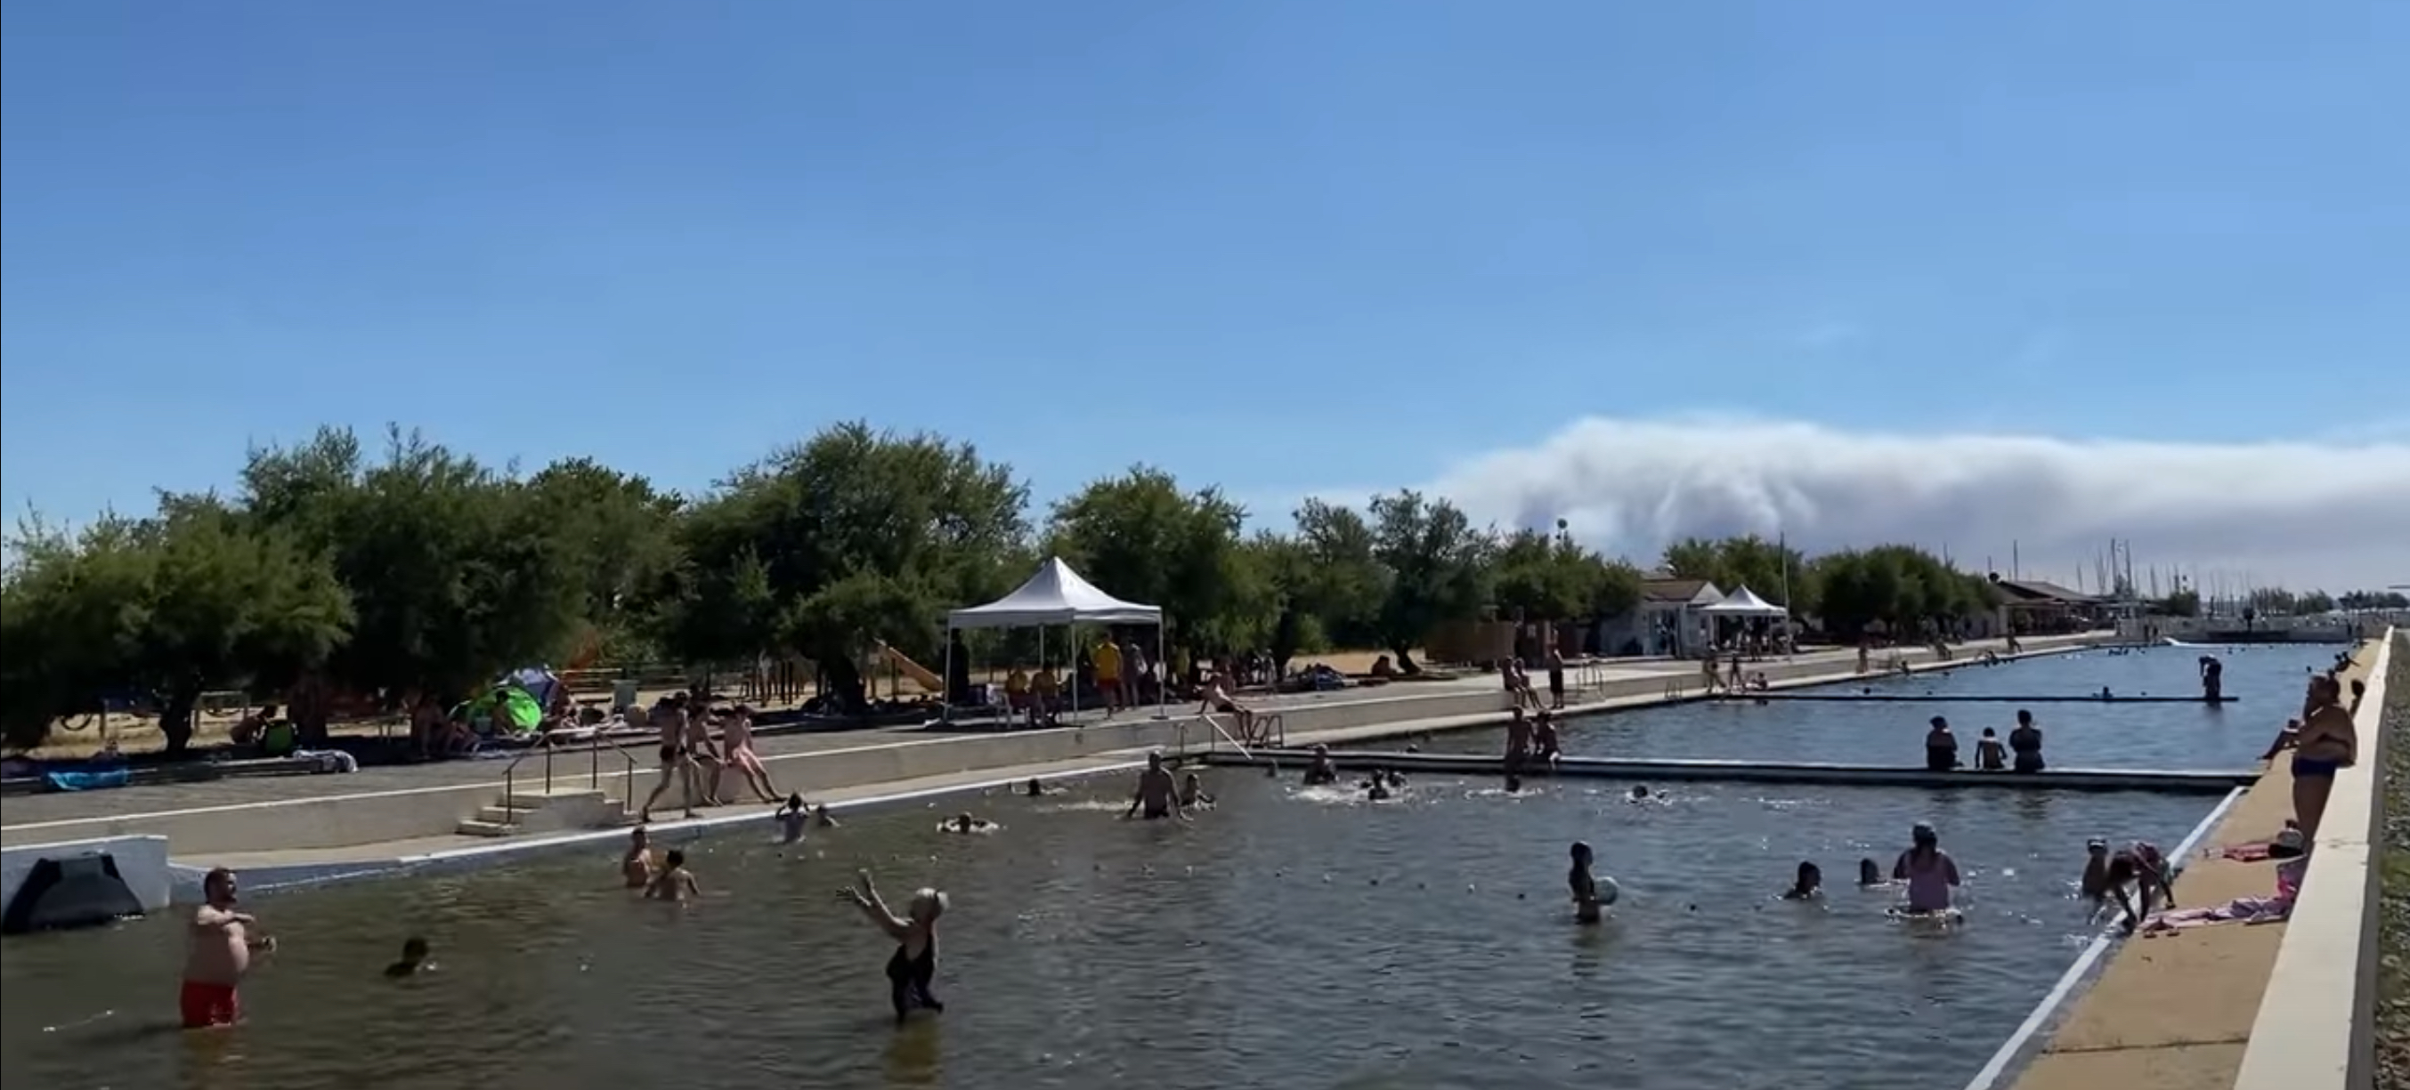
[[[1263,765],[1313,760],[1311,751],[1285,748],[1263,751],[1253,758],[1239,753],[1205,753],[1212,765]],[[1487,753],[1381,753],[1381,751],[1330,751],[1330,760],[1347,770],[1388,768],[1398,772],[1436,775],[1506,775],[1506,763]],[[2048,772],[1933,772],[1899,765],[1824,765],[1824,763],[1759,763],[1759,760],[1612,760],[1612,758],[1559,758],[1554,770],[1530,760],[1523,777],[1588,777],[1588,780],[1721,780],[1757,784],[1836,784],[1836,787],[2005,787],[2024,792],[2200,792],[2222,794],[2244,787],[2258,772],[2191,772],[2191,770],[2123,770],[2123,768],[2053,768]]]

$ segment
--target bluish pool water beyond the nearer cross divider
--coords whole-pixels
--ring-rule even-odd
[[[2145,652],[2070,652],[2000,667],[1964,667],[1950,674],[1817,686],[1805,693],[1914,695],[2041,695],[2099,693],[2198,695],[2200,654],[2224,662],[2232,705],[2142,703],[2034,703],[2024,705],[2044,731],[2044,756],[2053,768],[2251,768],[2268,739],[2302,710],[2304,667],[2326,669],[2330,645],[2268,645],[2246,650],[2155,647]],[[1865,765],[1921,765],[1926,719],[1942,715],[1959,736],[1959,753],[1974,763],[1983,727],[2005,741],[2015,727],[2015,703],[1682,703],[1632,712],[1588,715],[1566,722],[1564,751],[1598,758],[1711,758],[1711,760],[1832,760]],[[1364,748],[1395,748],[1366,744]],[[1499,731],[1453,731],[1422,741],[1427,751],[1489,753]]]

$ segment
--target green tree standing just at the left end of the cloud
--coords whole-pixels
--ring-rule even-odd
[[[1453,503],[1395,491],[1371,500],[1374,561],[1386,570],[1376,630],[1398,669],[1419,674],[1412,647],[1441,621],[1463,621],[1489,602],[1489,534]]]

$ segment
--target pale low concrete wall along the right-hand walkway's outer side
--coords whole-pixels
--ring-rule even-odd
[[[2393,650],[2393,633],[2386,633],[2355,717],[2359,760],[2335,772],[2234,1090],[2367,1090],[2376,1083],[2383,770],[2393,741],[2381,727]]]

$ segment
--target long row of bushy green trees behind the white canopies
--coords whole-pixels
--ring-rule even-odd
[[[171,748],[217,688],[465,693],[528,662],[684,664],[798,654],[860,700],[858,654],[940,652],[947,609],[1056,553],[1164,606],[1193,652],[1407,650],[1492,614],[1615,616],[1641,573],[1564,527],[1494,532],[1436,496],[1306,500],[1251,529],[1217,488],[1138,467],[1044,520],[1010,467],[937,436],[844,423],[675,496],[590,460],[516,474],[393,431],[381,457],[321,431],[251,452],[229,496],[161,496],[77,532],[29,525],[0,577],[0,729],[39,744],[104,698],[157,703]],[[1839,635],[1988,609],[1988,585],[1906,546],[1805,558],[1680,541],[1660,563],[1820,614]],[[296,707],[304,736],[323,707]],[[316,719],[316,722],[313,722]]]

